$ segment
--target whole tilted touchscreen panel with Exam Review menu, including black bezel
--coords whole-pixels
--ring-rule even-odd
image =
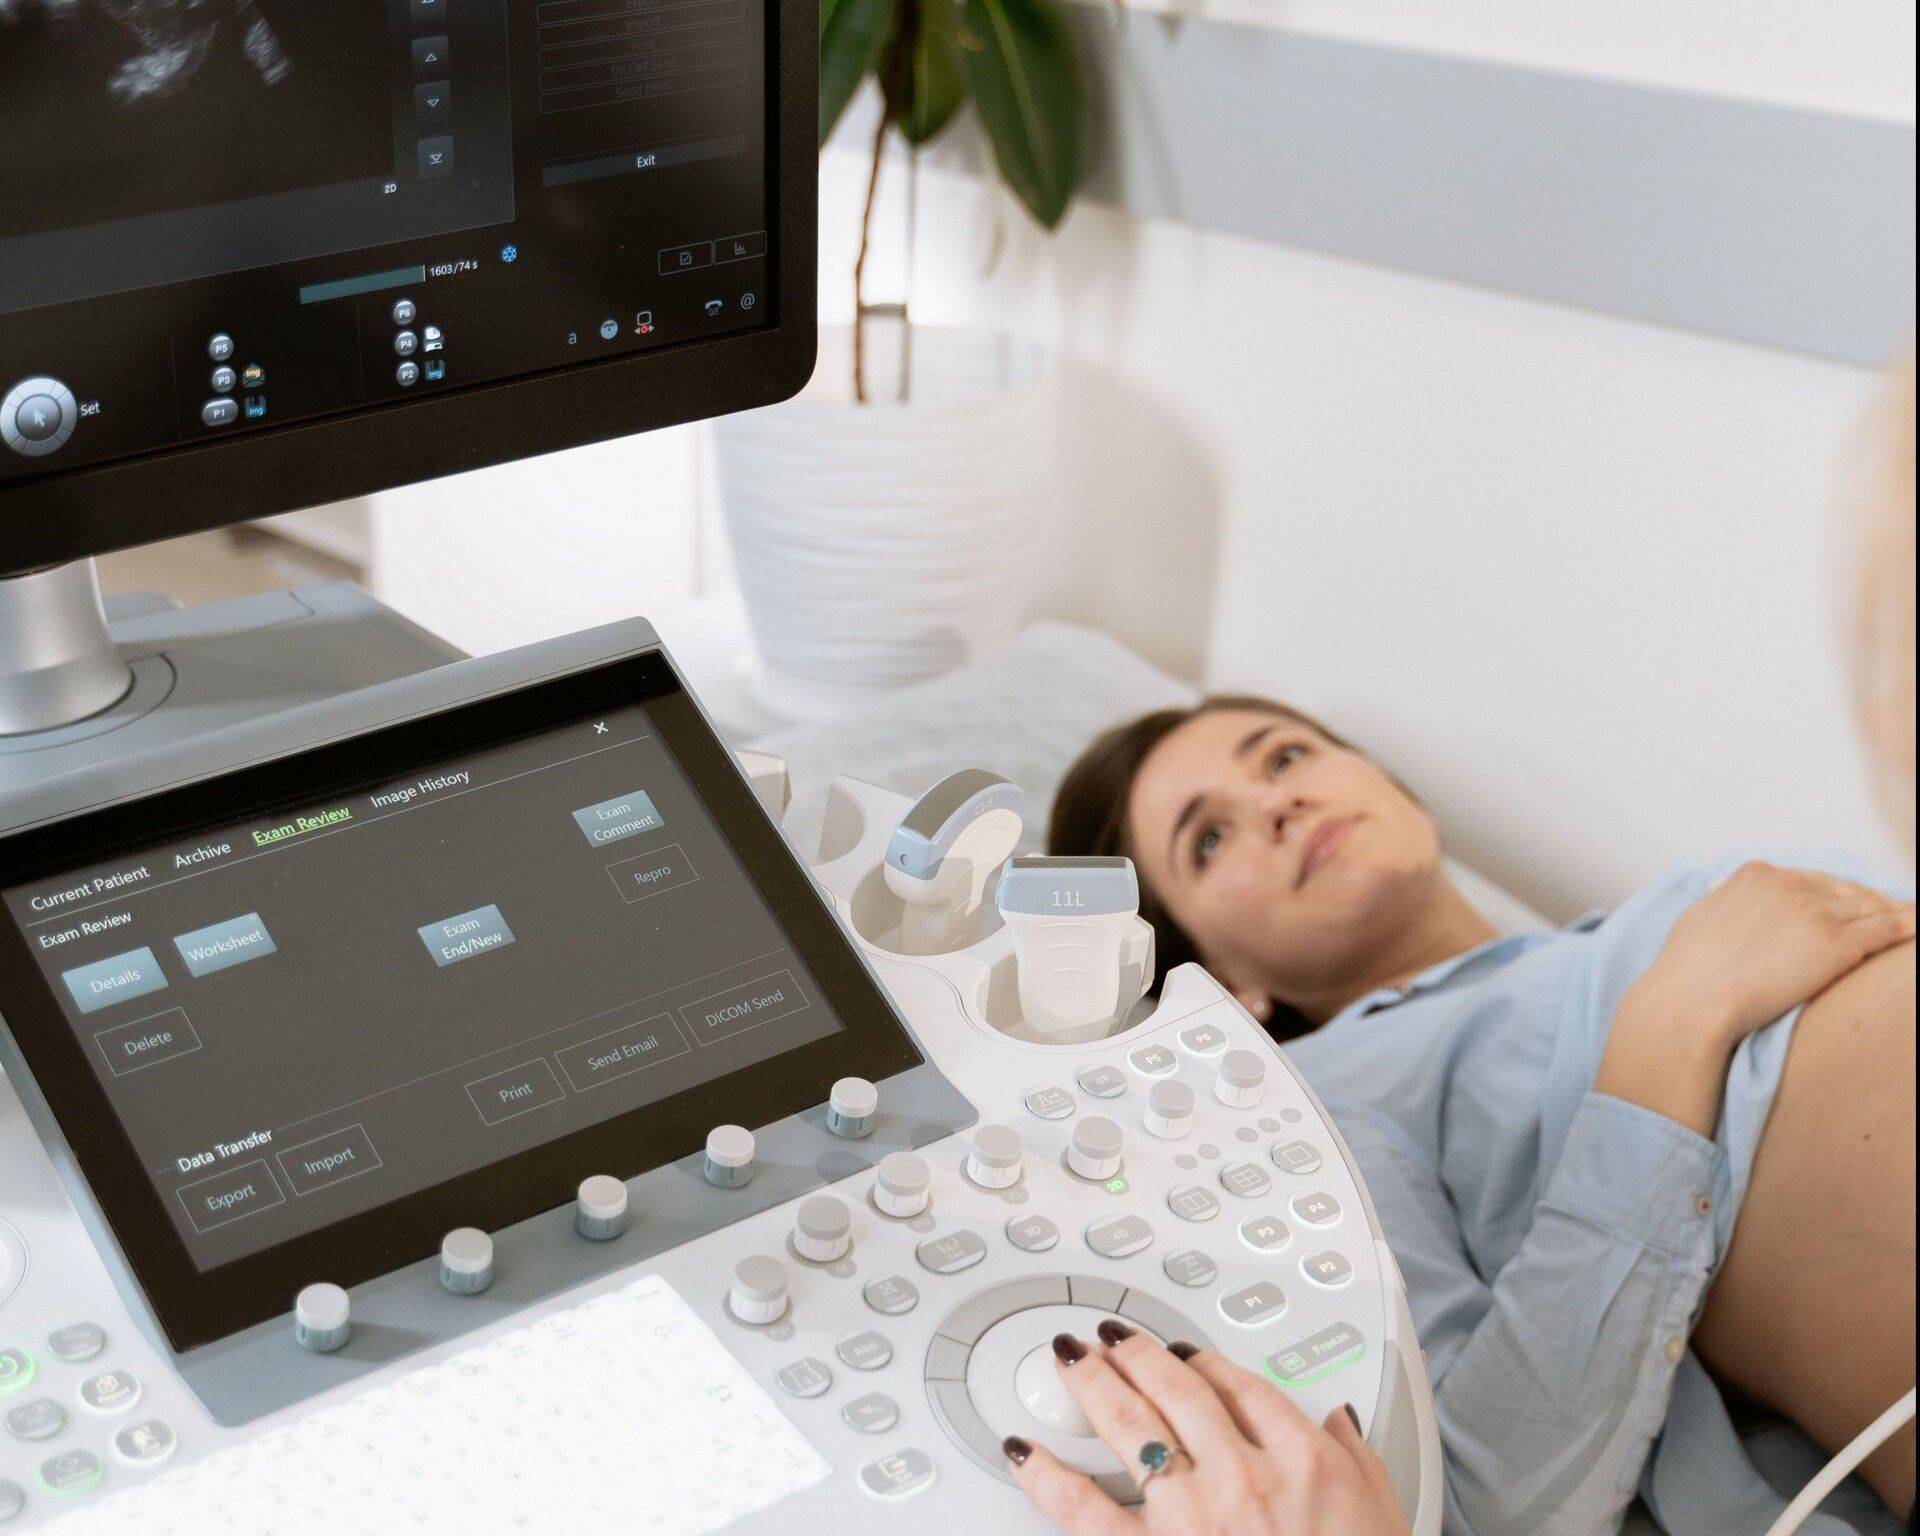
[[[6,1023],[177,1342],[918,1064],[645,666],[0,843]]]

